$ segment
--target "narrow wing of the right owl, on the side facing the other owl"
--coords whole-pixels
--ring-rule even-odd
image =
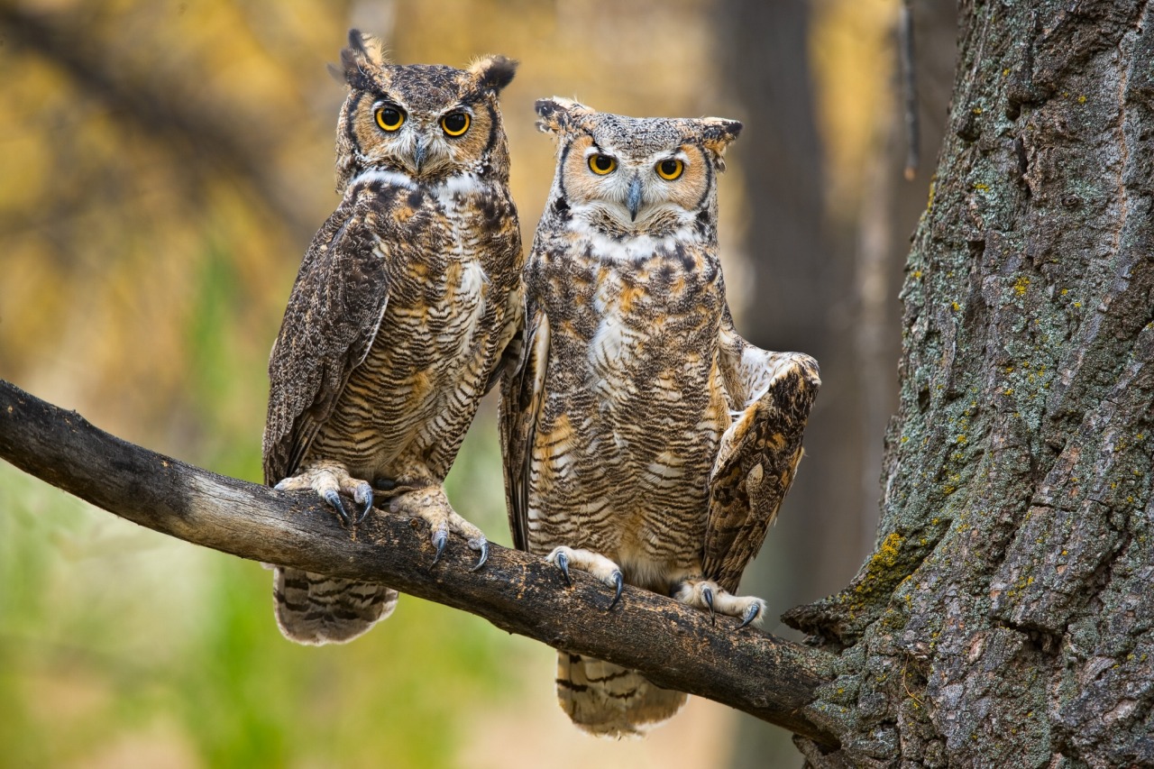
[[[514,546],[527,550],[533,441],[545,401],[545,373],[549,360],[549,319],[544,312],[532,308],[526,312],[519,344],[519,364],[501,386],[500,427],[509,529]]]

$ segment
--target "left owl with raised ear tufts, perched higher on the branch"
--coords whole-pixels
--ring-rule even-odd
[[[264,480],[310,490],[345,524],[373,508],[429,522],[487,553],[442,481],[522,321],[524,257],[497,94],[516,62],[392,65],[357,30],[337,124],[343,200],[313,239],[269,360]],[[377,494],[380,495],[380,494]],[[277,622],[299,643],[350,641],[397,592],[277,568]]]

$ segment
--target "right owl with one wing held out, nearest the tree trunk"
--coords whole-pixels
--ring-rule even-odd
[[[502,393],[517,547],[759,622],[734,595],[802,455],[817,363],[734,329],[718,261],[717,178],[741,124],[627,118],[537,103],[556,134],[553,189],[525,269],[519,367]],[[610,606],[612,609],[612,606]],[[557,696],[620,737],[685,695],[560,652]]]

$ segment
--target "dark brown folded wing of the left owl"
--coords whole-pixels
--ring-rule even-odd
[[[352,196],[313,238],[269,358],[264,483],[299,469],[373,346],[389,303],[390,247],[398,246],[374,234]]]

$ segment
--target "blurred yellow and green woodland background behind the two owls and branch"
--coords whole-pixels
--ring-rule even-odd
[[[779,612],[819,598],[874,536],[894,292],[949,98],[953,5],[914,5],[907,184],[897,0],[0,0],[0,376],[258,481],[268,351],[337,202],[325,62],[350,27],[402,62],[505,53],[526,244],[553,173],[535,98],[745,122],[721,187],[730,304],[754,342],[816,354],[825,387],[743,589]],[[493,418],[449,493],[508,545]],[[784,731],[700,700],[644,741],[586,738],[554,704],[552,650],[411,597],[353,644],[295,647],[270,582],[0,463],[0,764],[801,763]]]

